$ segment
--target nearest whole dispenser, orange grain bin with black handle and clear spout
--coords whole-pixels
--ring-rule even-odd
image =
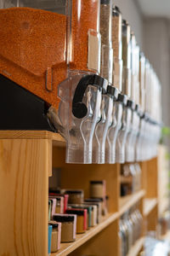
[[[91,163],[102,94],[98,0],[1,1],[1,130],[59,131]],[[8,104],[6,104],[8,100]]]

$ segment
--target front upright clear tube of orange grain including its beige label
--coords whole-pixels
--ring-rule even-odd
[[[98,0],[72,0],[70,38],[71,70],[99,73]]]

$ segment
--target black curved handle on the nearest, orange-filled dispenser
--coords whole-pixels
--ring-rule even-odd
[[[77,119],[82,119],[88,113],[87,106],[82,102],[84,93],[88,85],[98,87],[99,90],[102,90],[105,93],[107,84],[108,82],[106,79],[103,79],[96,74],[86,75],[83,76],[82,79],[80,79],[72,100],[72,113]]]

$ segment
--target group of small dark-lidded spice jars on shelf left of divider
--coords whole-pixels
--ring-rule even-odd
[[[89,182],[89,198],[82,189],[50,188],[48,195],[48,253],[60,243],[76,240],[77,234],[99,224],[108,212],[105,180]]]

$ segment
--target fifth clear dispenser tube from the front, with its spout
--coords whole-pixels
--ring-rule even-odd
[[[132,108],[131,128],[127,134],[126,161],[132,162],[135,159],[135,143],[139,133],[139,46],[136,38],[131,33],[131,97],[130,100],[135,104]]]

